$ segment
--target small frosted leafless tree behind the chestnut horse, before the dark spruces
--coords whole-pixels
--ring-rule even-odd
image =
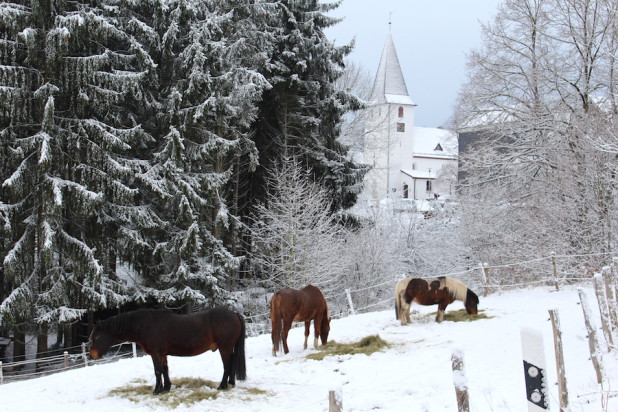
[[[283,159],[268,186],[253,217],[254,270],[270,290],[313,284],[328,294],[350,265],[326,189],[295,159]]]

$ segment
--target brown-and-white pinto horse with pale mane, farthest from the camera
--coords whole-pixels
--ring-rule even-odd
[[[478,314],[479,297],[465,284],[457,279],[441,276],[433,280],[414,278],[408,282],[403,292],[403,301],[408,313],[412,302],[421,305],[438,305],[436,322],[444,320],[444,310],[456,300],[464,302],[470,315]]]

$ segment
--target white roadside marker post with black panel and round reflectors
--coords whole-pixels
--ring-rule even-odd
[[[547,368],[545,350],[541,332],[523,328],[521,330],[521,347],[524,358],[524,379],[529,412],[541,412],[549,409],[547,396]]]

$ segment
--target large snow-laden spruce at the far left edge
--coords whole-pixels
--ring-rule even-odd
[[[128,299],[115,274],[117,217],[135,195],[128,149],[147,137],[132,109],[152,66],[113,8],[34,1],[2,13],[0,136],[11,151],[2,258],[12,292],[0,319],[41,325],[44,336],[47,325]]]

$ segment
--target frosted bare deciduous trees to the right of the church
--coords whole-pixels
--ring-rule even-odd
[[[615,156],[599,150],[615,111],[615,0],[506,0],[470,54],[461,130],[463,236],[474,257],[608,252]],[[605,132],[603,132],[605,131]]]

